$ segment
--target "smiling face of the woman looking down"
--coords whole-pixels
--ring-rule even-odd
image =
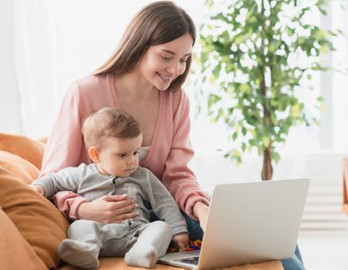
[[[192,46],[190,34],[168,43],[150,46],[140,61],[142,76],[157,89],[167,90],[170,83],[185,72]]]

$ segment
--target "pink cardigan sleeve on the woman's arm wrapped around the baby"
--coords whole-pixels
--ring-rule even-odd
[[[78,166],[84,158],[86,162],[86,157],[81,157],[84,146],[80,106],[78,84],[75,83],[69,88],[50,133],[42,160],[40,177],[67,166]],[[76,219],[81,202],[87,201],[77,193],[66,192],[58,193],[55,200],[60,211],[72,219]]]

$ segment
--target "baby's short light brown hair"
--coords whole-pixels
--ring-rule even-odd
[[[138,121],[132,115],[112,107],[93,111],[82,122],[86,148],[100,148],[104,138],[133,139],[142,134]]]

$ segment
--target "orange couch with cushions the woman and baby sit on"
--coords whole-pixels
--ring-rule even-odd
[[[44,139],[0,133],[0,268],[5,270],[77,269],[60,262],[57,247],[67,237],[69,221],[27,184],[37,178]],[[123,258],[100,258],[99,269],[140,269]],[[156,265],[155,269],[178,270]],[[229,269],[283,269],[279,261]]]

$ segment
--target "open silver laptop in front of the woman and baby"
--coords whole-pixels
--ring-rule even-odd
[[[309,179],[215,186],[200,250],[167,253],[160,264],[215,269],[292,257]]]

